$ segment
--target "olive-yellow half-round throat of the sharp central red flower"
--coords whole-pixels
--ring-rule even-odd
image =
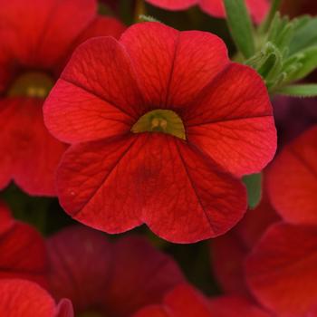
[[[183,121],[172,110],[152,110],[144,114],[133,125],[133,133],[161,132],[173,135],[179,139],[186,139]]]

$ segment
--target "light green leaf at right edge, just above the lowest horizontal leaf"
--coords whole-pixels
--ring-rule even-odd
[[[301,63],[301,67],[299,67],[297,72],[293,72],[292,76],[289,77],[288,80],[290,82],[299,81],[303,79],[317,68],[317,45],[309,47],[296,55],[299,56],[298,62]],[[290,59],[292,58],[293,57],[291,57]]]

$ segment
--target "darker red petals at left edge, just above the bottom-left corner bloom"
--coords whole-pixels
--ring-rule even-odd
[[[0,202],[0,279],[22,278],[47,287],[47,265],[42,236],[15,221]]]

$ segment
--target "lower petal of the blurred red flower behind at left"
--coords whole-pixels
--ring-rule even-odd
[[[10,98],[4,103],[10,116],[0,136],[7,140],[2,146],[13,165],[10,176],[30,195],[54,196],[55,169],[66,146],[44,127],[43,101]]]

